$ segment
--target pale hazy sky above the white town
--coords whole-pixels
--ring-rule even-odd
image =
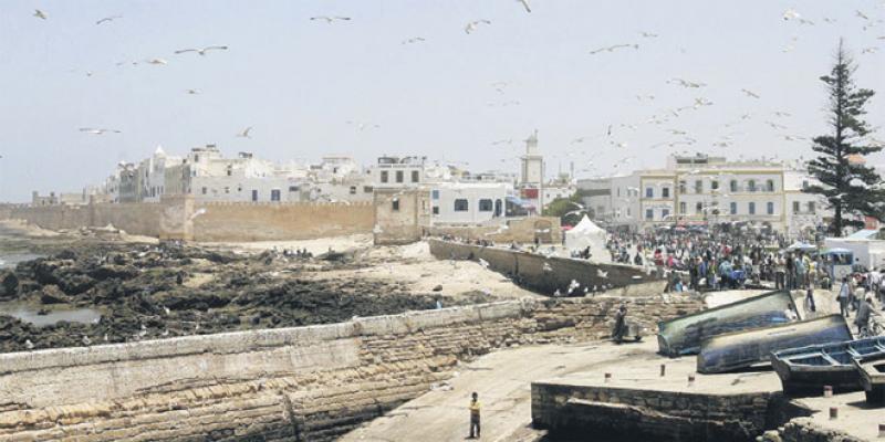
[[[537,129],[548,175],[574,162],[577,178],[674,152],[809,158],[800,137],[827,130],[819,77],[840,38],[857,85],[882,94],[868,123],[885,124],[883,0],[529,1],[531,13],[518,0],[6,0],[0,201],[80,191],[157,146],[516,172]],[[475,20],[491,23],[465,32]],[[174,53],[208,45],[229,49]]]

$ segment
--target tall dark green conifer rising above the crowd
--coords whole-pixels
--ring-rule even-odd
[[[829,230],[835,236],[841,236],[848,227],[863,228],[864,222],[856,215],[882,220],[885,213],[882,178],[862,160],[883,149],[866,138],[871,129],[862,119],[866,114],[864,105],[875,92],[854,85],[856,69],[840,40],[835,65],[830,75],[821,77],[830,94],[826,107],[830,134],[812,140],[812,149],[820,156],[808,164],[809,172],[821,183],[809,187],[805,192],[826,199],[834,214]]]

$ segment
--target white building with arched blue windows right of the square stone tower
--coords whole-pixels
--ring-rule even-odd
[[[512,186],[503,182],[439,182],[430,189],[431,221],[436,224],[482,224],[503,219]]]

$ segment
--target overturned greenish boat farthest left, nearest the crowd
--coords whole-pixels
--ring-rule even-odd
[[[798,314],[790,292],[778,291],[664,320],[658,323],[658,351],[669,357],[693,355],[698,352],[705,338],[785,324],[790,320],[788,308]]]

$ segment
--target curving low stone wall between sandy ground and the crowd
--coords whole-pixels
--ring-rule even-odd
[[[489,269],[503,273],[518,284],[546,295],[558,290],[569,294],[572,281],[581,284],[571,296],[583,296],[608,288],[635,286],[624,295],[648,295],[664,292],[666,281],[642,267],[624,264],[602,264],[586,260],[548,257],[540,254],[510,250],[502,246],[485,248],[451,241],[428,240],[430,253],[439,260],[486,261]]]

